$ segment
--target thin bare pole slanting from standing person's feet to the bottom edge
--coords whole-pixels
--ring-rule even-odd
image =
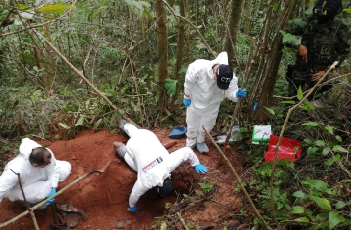
[[[251,200],[250,195],[247,193],[245,187],[243,186],[241,179],[239,177],[239,175],[237,174],[237,172],[235,171],[234,167],[232,166],[232,164],[229,162],[228,158],[224,155],[224,153],[222,152],[222,150],[219,148],[219,146],[217,145],[217,143],[215,142],[215,140],[213,140],[211,134],[208,132],[207,128],[205,126],[202,126],[203,130],[205,130],[206,135],[210,138],[212,144],[217,148],[217,150],[219,151],[220,155],[222,156],[222,158],[224,159],[224,161],[227,163],[227,165],[229,166],[230,170],[232,171],[232,173],[235,176],[235,179],[237,180],[241,191],[245,194],[248,202],[250,203],[250,206],[253,210],[253,212],[255,213],[255,215],[260,219],[261,223],[263,224],[264,228],[267,230],[273,230],[263,219],[263,217],[261,216],[261,214],[259,213],[259,211],[256,209],[254,203]]]

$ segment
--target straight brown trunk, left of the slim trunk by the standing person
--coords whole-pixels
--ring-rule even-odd
[[[158,108],[167,107],[165,79],[168,78],[168,34],[166,7],[162,1],[155,5],[157,16],[157,55],[158,55]]]

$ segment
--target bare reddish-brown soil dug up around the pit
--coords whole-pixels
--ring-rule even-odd
[[[171,153],[185,146],[185,137],[172,139],[168,137],[170,130],[154,131],[162,144],[176,140],[177,144],[168,151]],[[189,229],[228,230],[249,227],[247,224],[250,213],[241,213],[240,209],[247,206],[246,199],[240,189],[238,191],[234,175],[229,167],[219,161],[218,150],[206,138],[209,154],[200,154],[195,150],[200,162],[209,168],[207,174],[197,174],[188,162],[183,162],[172,172],[173,194],[164,199],[156,196],[151,189],[141,196],[137,203],[138,210],[127,211],[129,195],[132,191],[137,174],[119,157],[115,155],[112,142],[126,143],[128,136],[108,131],[94,132],[85,130],[75,139],[55,142],[38,141],[50,148],[56,159],[69,161],[72,165],[71,175],[59,183],[58,190],[76,180],[78,177],[94,169],[103,169],[111,160],[110,168],[103,174],[93,173],[78,184],[66,190],[56,198],[57,203],[68,203],[84,211],[88,219],[74,229],[76,230],[112,230],[117,227],[131,230],[159,229],[167,225],[169,229],[184,229],[177,212],[184,219]],[[246,170],[241,165],[245,159],[234,148],[227,153],[228,159],[241,176]],[[249,176],[243,176],[248,181]],[[199,182],[205,183],[207,192],[201,189]],[[215,184],[214,184],[215,182]],[[210,188],[211,183],[213,185]],[[183,195],[185,194],[185,196]],[[4,199],[0,204],[0,223],[10,220],[25,211],[17,202]],[[53,222],[53,207],[36,210],[35,215],[39,228],[49,230]],[[121,220],[124,220],[121,222]],[[119,224],[119,226],[117,226]],[[122,224],[122,225],[121,225]],[[34,230],[30,215],[15,221],[3,228],[4,230]]]

